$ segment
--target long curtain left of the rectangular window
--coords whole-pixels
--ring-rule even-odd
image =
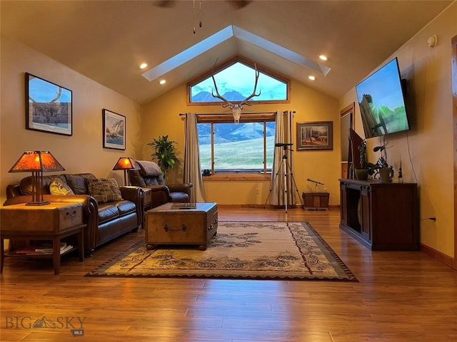
[[[186,141],[184,142],[184,182],[192,183],[191,202],[205,202],[200,170],[199,133],[196,113],[186,113]]]

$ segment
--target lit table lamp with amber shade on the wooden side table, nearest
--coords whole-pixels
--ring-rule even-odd
[[[49,204],[43,199],[43,172],[64,171],[49,151],[25,151],[9,172],[31,172],[31,202],[26,205]]]

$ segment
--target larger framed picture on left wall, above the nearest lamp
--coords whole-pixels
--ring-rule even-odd
[[[73,135],[71,90],[26,73],[26,130]]]

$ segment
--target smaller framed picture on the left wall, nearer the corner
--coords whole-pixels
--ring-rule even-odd
[[[116,150],[126,149],[126,117],[103,110],[103,147]]]

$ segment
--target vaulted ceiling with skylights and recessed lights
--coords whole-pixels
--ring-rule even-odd
[[[1,34],[139,103],[235,56],[338,98],[452,2],[2,0]]]

